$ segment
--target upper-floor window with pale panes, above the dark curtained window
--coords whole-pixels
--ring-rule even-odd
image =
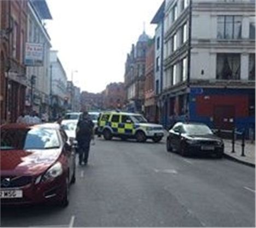
[[[218,39],[241,39],[241,16],[218,16]]]

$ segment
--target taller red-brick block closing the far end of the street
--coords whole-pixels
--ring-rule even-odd
[[[123,109],[125,102],[125,87],[123,82],[107,85],[104,91],[104,109]]]

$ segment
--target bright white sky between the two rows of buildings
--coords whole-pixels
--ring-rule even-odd
[[[163,0],[46,0],[53,20],[46,22],[53,50],[82,91],[101,92],[123,82],[126,55],[151,25]]]

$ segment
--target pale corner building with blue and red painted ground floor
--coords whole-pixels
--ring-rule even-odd
[[[166,125],[255,126],[255,1],[166,0]]]

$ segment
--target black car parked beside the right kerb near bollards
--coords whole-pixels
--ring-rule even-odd
[[[223,140],[202,123],[176,123],[170,130],[166,141],[168,152],[178,151],[181,155],[216,154],[222,158]]]

